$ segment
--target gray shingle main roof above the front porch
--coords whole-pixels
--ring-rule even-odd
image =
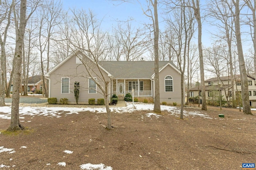
[[[159,61],[159,69],[171,61]],[[150,78],[154,74],[154,61],[100,61],[99,64],[114,78]]]

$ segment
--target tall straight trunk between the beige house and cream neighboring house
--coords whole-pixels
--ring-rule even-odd
[[[205,95],[205,86],[204,86],[204,59],[203,59],[203,49],[202,49],[202,22],[200,16],[200,6],[199,0],[196,0],[196,4],[194,0],[192,0],[194,6],[194,13],[196,17],[196,21],[198,23],[198,51],[199,51],[199,63],[200,63],[200,79],[201,79],[201,87],[202,87],[202,110],[207,110],[206,106],[206,95]]]

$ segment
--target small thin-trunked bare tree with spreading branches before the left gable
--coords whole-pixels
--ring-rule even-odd
[[[100,88],[98,92],[104,96],[105,107],[108,115],[108,123],[106,128],[111,129],[111,110],[108,106],[108,86],[110,78],[106,77],[104,70],[100,66],[100,59],[109,54],[108,34],[100,31],[100,23],[96,20],[94,14],[90,11],[87,13],[84,10],[72,10],[74,15],[73,23],[76,29],[70,30],[70,43],[76,48],[83,51],[91,60],[78,55],[86,69],[86,73],[80,76],[90,78]],[[75,50],[75,49],[74,49]],[[96,75],[96,77],[95,77]],[[93,89],[96,90],[96,89]]]

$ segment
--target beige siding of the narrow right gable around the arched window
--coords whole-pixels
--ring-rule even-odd
[[[165,92],[165,77],[172,76],[173,92]],[[161,72],[159,72],[159,86],[160,86],[160,102],[181,102],[181,77],[180,74],[174,70],[170,65],[167,65]]]

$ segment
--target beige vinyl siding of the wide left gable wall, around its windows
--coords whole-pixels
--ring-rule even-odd
[[[90,63],[92,63],[92,61],[90,61]],[[97,76],[97,74],[101,75],[100,71],[98,70],[98,68],[94,63],[92,63],[91,68],[93,68],[95,72],[92,74],[92,76],[100,82],[102,78]],[[108,74],[103,70],[102,72],[106,80],[109,80]],[[69,94],[61,93],[61,78],[63,77],[70,78]],[[75,104],[76,101],[74,98],[74,82],[80,82],[80,94],[79,94],[79,102],[78,102],[79,104],[88,104],[89,98],[95,98],[96,101],[98,98],[103,98],[102,92],[98,86],[97,86],[98,92],[96,92],[96,94],[95,93],[90,94],[88,92],[88,87],[89,87],[88,78],[90,78],[90,76],[86,71],[85,66],[83,64],[76,64],[76,56],[73,56],[50,74],[50,80],[51,80],[50,97],[57,98],[58,102],[60,101],[60,98],[68,98],[69,104]],[[101,84],[103,84],[104,86],[103,82]]]

